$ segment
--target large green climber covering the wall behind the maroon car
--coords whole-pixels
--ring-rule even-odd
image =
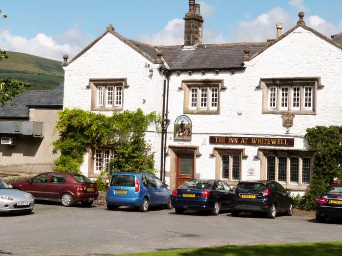
[[[150,123],[160,120],[155,112],[144,115],[141,109],[113,113],[108,117],[66,108],[59,112],[56,130],[60,137],[53,142],[53,152],[61,154],[55,160],[56,171],[79,173],[85,153],[90,148],[106,146],[117,154],[110,161],[110,173],[154,173],[154,153],[145,141],[145,132]]]

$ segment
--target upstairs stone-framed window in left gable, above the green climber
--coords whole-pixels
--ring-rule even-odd
[[[121,111],[127,79],[90,79],[91,110]]]

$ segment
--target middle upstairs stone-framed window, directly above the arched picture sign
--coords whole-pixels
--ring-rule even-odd
[[[221,90],[226,89],[223,79],[182,80],[179,89],[184,90],[183,114],[220,113]]]

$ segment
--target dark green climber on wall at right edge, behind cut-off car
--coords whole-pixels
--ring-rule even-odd
[[[305,138],[314,150],[313,174],[309,189],[298,200],[299,208],[314,210],[315,199],[334,177],[342,182],[342,126],[316,126],[306,129]]]

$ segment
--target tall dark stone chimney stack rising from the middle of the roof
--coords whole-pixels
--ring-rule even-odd
[[[189,12],[185,14],[184,46],[202,44],[203,18],[200,14],[200,4],[189,0]]]

